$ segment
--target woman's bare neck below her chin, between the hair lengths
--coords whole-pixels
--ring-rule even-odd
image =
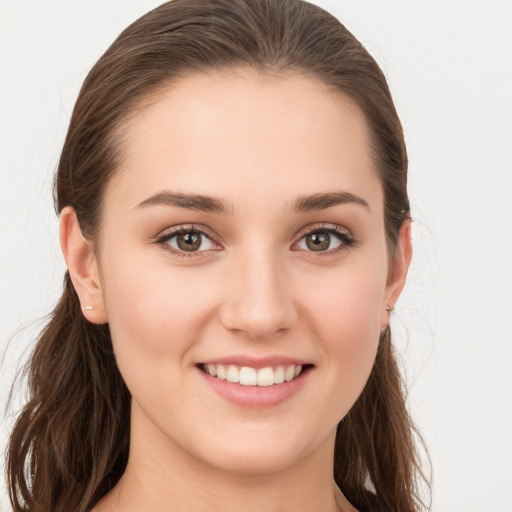
[[[156,427],[139,427],[132,417],[126,471],[94,512],[355,511],[333,481],[334,433],[290,466],[235,473],[193,457]]]

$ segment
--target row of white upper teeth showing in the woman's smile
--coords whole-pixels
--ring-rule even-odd
[[[249,366],[236,366],[230,364],[227,367],[223,364],[205,364],[203,370],[212,377],[227,380],[228,382],[237,382],[242,386],[273,386],[290,382],[298,377],[302,371],[301,365],[277,366],[271,368],[260,368],[259,370]]]

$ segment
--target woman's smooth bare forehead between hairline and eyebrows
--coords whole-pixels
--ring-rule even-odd
[[[241,69],[182,77],[122,133],[122,163],[107,195],[122,190],[132,206],[163,189],[235,206],[332,190],[382,201],[362,112],[304,75]]]

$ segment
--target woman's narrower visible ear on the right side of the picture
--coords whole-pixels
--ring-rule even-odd
[[[383,313],[381,318],[381,328],[384,329],[389,324],[390,311],[386,306],[395,307],[396,301],[405,286],[405,279],[411,264],[412,258],[412,240],[411,240],[411,221],[406,220],[400,228],[398,244],[390,263],[388,279],[386,282],[385,302],[383,304]]]

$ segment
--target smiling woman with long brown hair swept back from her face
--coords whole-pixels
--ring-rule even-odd
[[[68,272],[14,509],[420,510],[389,329],[406,183],[385,78],[320,8],[174,0],[128,27],[59,163]]]

